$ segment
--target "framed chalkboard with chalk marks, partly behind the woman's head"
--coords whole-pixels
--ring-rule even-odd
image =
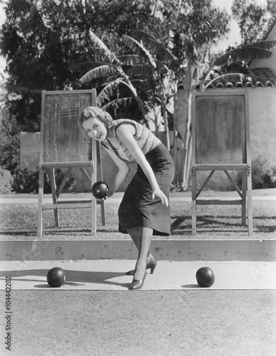
[[[95,105],[95,90],[42,92],[41,162],[91,160],[91,138],[78,126],[78,117]]]

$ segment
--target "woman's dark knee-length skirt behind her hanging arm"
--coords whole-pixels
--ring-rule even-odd
[[[153,169],[155,178],[162,192],[169,197],[175,168],[167,148],[161,144],[145,155]],[[135,227],[149,227],[153,235],[170,235],[170,205],[165,206],[159,197],[152,199],[153,189],[138,165],[136,174],[128,184],[118,210],[119,231],[128,233]]]

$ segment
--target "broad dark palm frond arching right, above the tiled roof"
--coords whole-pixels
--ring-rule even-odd
[[[215,66],[220,66],[223,63],[227,63],[231,58],[232,61],[241,62],[241,61],[252,61],[252,59],[261,59],[269,58],[272,56],[272,51],[268,51],[263,48],[257,47],[244,47],[236,48],[232,51],[225,53],[223,56],[220,56],[215,60]]]

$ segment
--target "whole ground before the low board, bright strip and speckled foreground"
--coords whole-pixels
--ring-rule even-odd
[[[158,261],[132,292],[134,260],[0,261],[1,305],[9,275],[14,311],[0,355],[275,356],[275,263]],[[46,283],[53,266],[66,271],[61,288]],[[201,266],[210,288],[195,281]]]

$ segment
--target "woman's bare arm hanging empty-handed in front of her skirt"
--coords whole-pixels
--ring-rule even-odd
[[[150,167],[150,164],[145,159],[145,155],[140,150],[140,147],[138,146],[135,138],[133,137],[133,135],[135,134],[135,128],[132,125],[121,125],[118,127],[116,133],[118,138],[123,142],[123,145],[128,148],[128,151],[131,152],[131,155],[136,159],[136,162],[143,169],[145,176],[148,178],[151,187],[153,188],[153,199],[156,195],[160,197],[163,204],[168,206],[168,198],[158,186],[158,182],[156,181],[153,169]]]

